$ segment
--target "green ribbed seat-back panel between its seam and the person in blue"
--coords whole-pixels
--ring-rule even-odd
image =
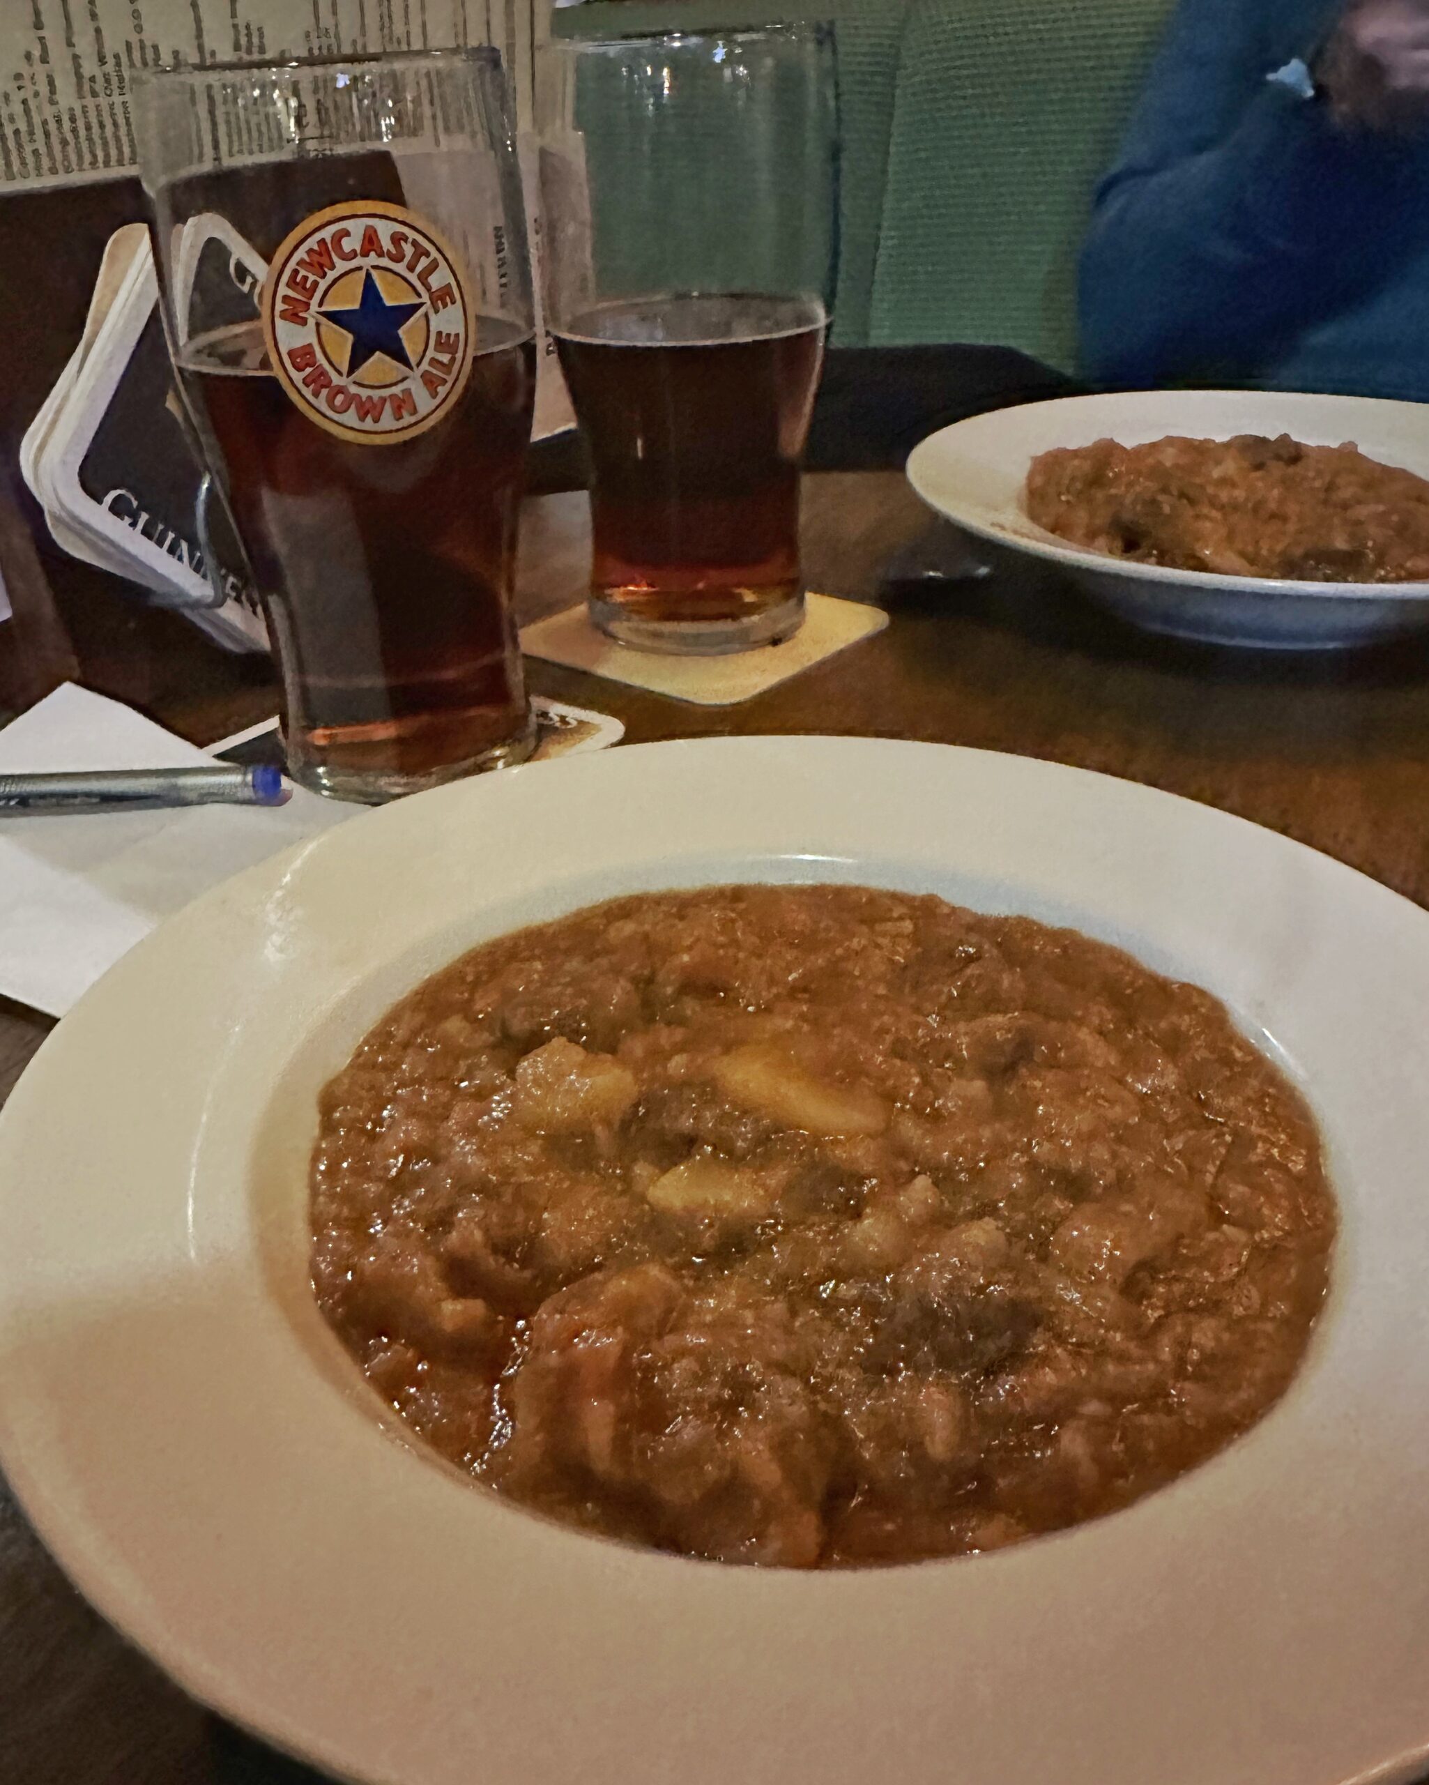
[[[1070,369],[1092,193],[1170,4],[915,0],[897,73],[872,345],[995,343]]]

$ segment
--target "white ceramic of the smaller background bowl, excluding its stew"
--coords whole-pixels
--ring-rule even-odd
[[[1088,594],[1151,632],[1208,644],[1329,650],[1429,625],[1429,582],[1290,582],[1133,564],[1069,544],[1028,519],[1028,466],[1054,446],[1167,434],[1292,434],[1354,441],[1370,459],[1429,477],[1429,403],[1293,391],[1129,391],[1060,396],[954,421],[913,448],[908,478],[938,514],[983,539],[1061,564]]]

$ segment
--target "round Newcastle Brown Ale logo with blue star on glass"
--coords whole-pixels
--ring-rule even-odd
[[[376,198],[318,211],[273,255],[268,357],[319,427],[375,446],[430,428],[471,371],[457,257],[421,218]]]

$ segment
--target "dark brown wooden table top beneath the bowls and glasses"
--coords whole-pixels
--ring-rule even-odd
[[[894,361],[865,357],[863,377],[881,377],[880,366]],[[860,419],[867,382],[835,393],[815,462],[837,462],[840,450],[853,462],[897,461],[938,419],[933,362],[904,355],[897,368],[872,421]],[[580,596],[587,539],[582,493],[528,503],[523,621]],[[733,709],[681,705],[542,662],[530,664],[532,687],[617,714],[633,743],[844,732],[1072,762],[1270,825],[1429,905],[1429,643],[1277,655],[1152,639],[1103,616],[1056,573],[999,557],[971,575],[979,560],[892,469],[812,473],[805,552],[814,587],[883,603],[887,632]],[[262,666],[216,652],[200,662],[191,628],[180,628],[164,616],[136,625],[107,691],[196,743],[273,710]],[[0,1001],[0,1098],[48,1028]],[[314,1778],[191,1705],[128,1649],[66,1583],[0,1483],[0,1780]]]

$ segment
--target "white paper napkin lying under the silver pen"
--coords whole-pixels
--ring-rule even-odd
[[[0,730],[0,773],[209,760],[130,707],[71,682]],[[282,807],[0,818],[0,992],[62,1016],[161,917],[362,810],[300,787]]]

